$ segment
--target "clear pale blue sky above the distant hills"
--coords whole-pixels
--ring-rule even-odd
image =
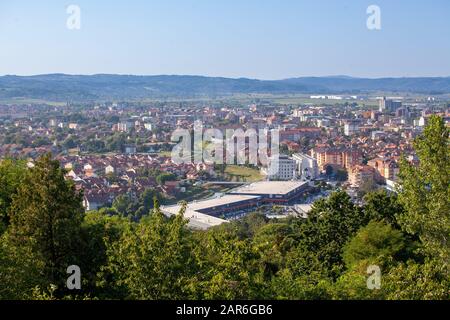
[[[1,0],[0,75],[43,73],[450,76],[450,1]]]

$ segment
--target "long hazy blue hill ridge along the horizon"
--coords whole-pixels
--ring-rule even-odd
[[[0,99],[50,101],[214,97],[233,94],[342,94],[374,92],[450,93],[446,78],[380,78],[347,76],[303,77],[286,80],[230,79],[203,76],[66,75],[0,77]]]

